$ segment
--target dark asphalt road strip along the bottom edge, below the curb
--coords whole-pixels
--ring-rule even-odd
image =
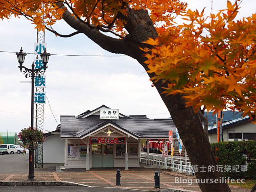
[[[77,186],[1,186],[1,192],[142,192],[141,190],[128,190],[120,188],[98,188]]]

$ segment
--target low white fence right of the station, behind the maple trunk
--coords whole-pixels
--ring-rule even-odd
[[[170,169],[174,172],[185,173],[189,175],[194,175],[194,170],[192,169],[191,163],[187,159],[183,158],[164,158],[160,156],[141,156],[140,165],[149,168],[160,168],[160,169]]]

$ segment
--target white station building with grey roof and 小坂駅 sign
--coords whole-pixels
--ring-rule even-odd
[[[44,166],[65,168],[139,167],[140,141],[168,139],[172,119],[119,113],[102,105],[77,116],[60,116],[55,131],[45,134]]]

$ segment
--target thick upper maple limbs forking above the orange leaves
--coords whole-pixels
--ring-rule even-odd
[[[140,47],[145,47],[146,45],[142,42],[148,40],[149,37],[155,39],[158,34],[146,10],[126,9],[127,15],[122,15],[120,19],[126,20],[125,28],[129,35],[118,39],[103,34],[98,28],[91,28],[89,23],[81,22],[66,9],[63,3],[60,2],[57,5],[65,10],[63,20],[69,26],[85,34],[103,49],[112,53],[126,54],[147,68],[144,64],[146,58],[143,57],[144,52],[140,50]]]

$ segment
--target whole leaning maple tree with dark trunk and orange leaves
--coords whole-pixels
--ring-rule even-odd
[[[190,161],[207,167],[217,162],[202,127],[203,110],[255,117],[256,14],[235,20],[239,2],[227,1],[225,10],[205,16],[179,0],[2,0],[0,18],[25,16],[38,30],[61,37],[82,33],[105,50],[135,58],[168,108]],[[176,16],[184,24],[175,24]],[[55,31],[58,20],[75,31]],[[199,179],[221,176],[196,172]],[[203,192],[230,191],[225,183],[199,186]]]

